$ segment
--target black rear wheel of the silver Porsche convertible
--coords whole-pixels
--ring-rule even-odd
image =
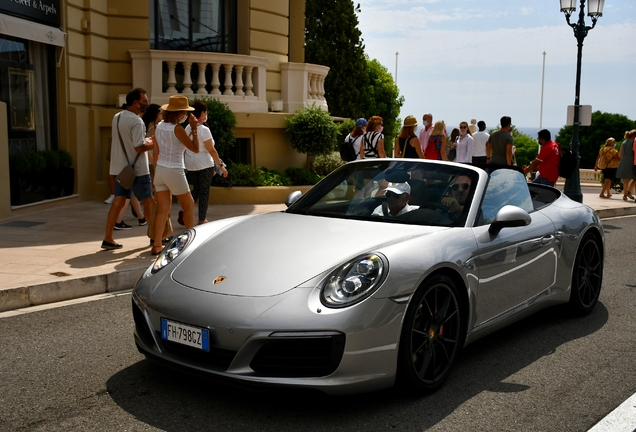
[[[603,255],[600,241],[586,235],[581,241],[572,269],[570,308],[577,315],[586,315],[598,302],[603,283]]]

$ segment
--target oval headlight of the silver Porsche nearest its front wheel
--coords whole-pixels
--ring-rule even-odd
[[[327,307],[355,304],[380,286],[386,272],[385,261],[376,254],[357,257],[329,275],[322,287],[320,301]]]

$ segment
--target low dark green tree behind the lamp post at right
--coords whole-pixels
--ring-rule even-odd
[[[580,168],[594,168],[598,150],[605,141],[613,137],[617,142],[623,141],[625,131],[636,128],[636,121],[622,114],[611,114],[601,111],[592,113],[592,124],[579,127]],[[572,126],[565,126],[559,131],[555,141],[563,148],[569,148],[572,142]]]

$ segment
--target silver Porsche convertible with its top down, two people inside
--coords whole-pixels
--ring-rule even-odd
[[[134,337],[248,386],[430,392],[484,335],[559,303],[589,313],[603,259],[594,210],[515,168],[356,161],[285,211],[177,236],[135,286]]]

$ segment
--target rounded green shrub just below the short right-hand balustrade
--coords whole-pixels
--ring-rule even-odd
[[[294,149],[310,156],[327,154],[336,148],[338,127],[329,113],[315,104],[289,117],[285,130]]]

